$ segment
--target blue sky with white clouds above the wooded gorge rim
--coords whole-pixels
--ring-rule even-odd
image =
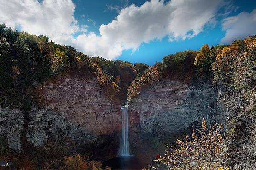
[[[0,0],[0,23],[90,57],[153,65],[256,35],[255,0]]]

